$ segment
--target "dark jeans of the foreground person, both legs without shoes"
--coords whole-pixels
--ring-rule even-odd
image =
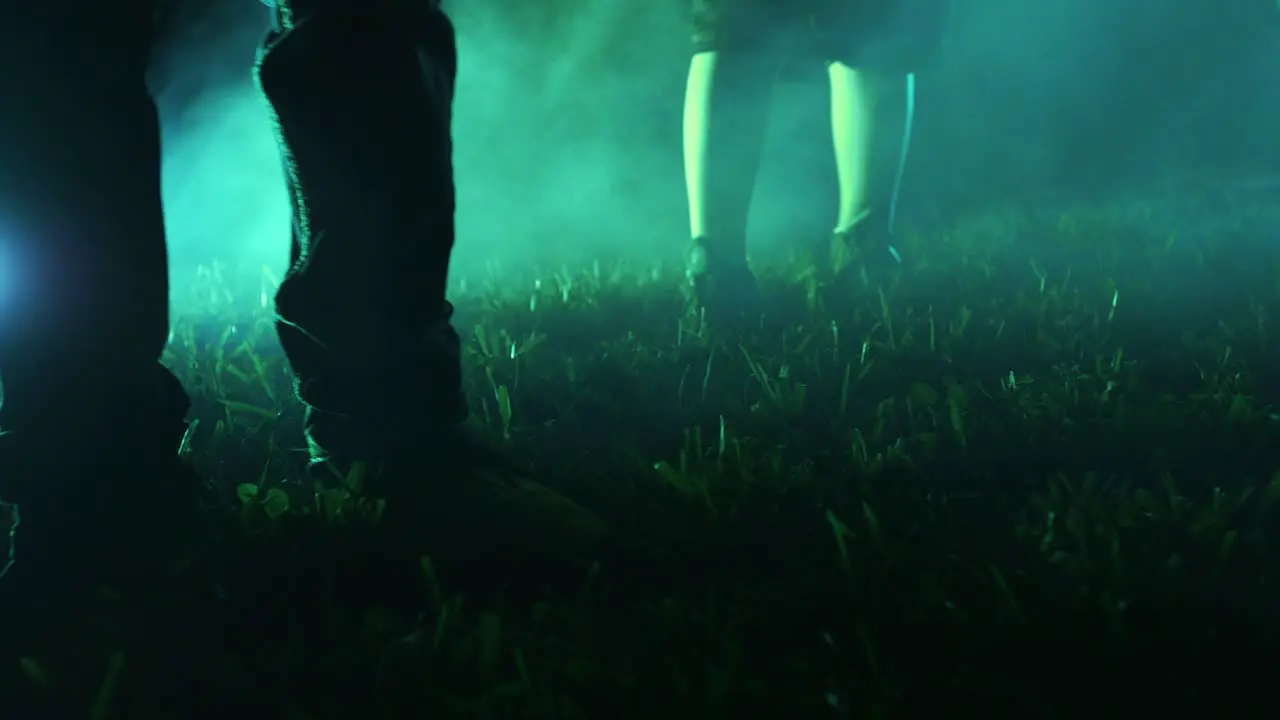
[[[465,413],[444,299],[453,28],[430,4],[370,5],[300,12],[257,65],[296,210],[280,338],[315,439],[351,456]],[[159,365],[155,26],[152,0],[0,0],[0,428],[50,457],[123,434],[173,451],[187,411]],[[0,496],[20,502],[17,484]]]

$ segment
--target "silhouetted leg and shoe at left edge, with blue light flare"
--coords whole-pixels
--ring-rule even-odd
[[[193,524],[187,398],[159,365],[152,19],[148,1],[0,1],[0,497],[20,512],[0,578],[5,660],[69,647],[59,633],[83,629],[93,584],[151,587]]]

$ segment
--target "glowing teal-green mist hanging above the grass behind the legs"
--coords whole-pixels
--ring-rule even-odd
[[[687,232],[686,4],[452,5],[461,51],[454,278],[675,259]],[[918,218],[983,211],[1015,196],[1106,195],[1280,165],[1280,86],[1265,82],[1280,53],[1266,18],[1249,14],[1270,4],[1247,5],[954,0],[940,64],[920,79],[906,208]],[[287,196],[250,77],[265,24],[253,3],[192,12],[157,54],[179,306],[180,278],[196,265],[284,269]],[[828,122],[820,63],[797,64],[772,114],[754,252],[829,228]]]

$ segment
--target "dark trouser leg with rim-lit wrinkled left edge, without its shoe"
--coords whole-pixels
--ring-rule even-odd
[[[426,6],[293,8],[259,64],[296,208],[280,341],[317,455],[380,457],[466,413],[444,299],[453,28]]]

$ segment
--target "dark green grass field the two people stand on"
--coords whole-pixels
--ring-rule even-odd
[[[300,720],[1270,716],[1280,225],[1221,202],[1014,208],[838,286],[778,263],[731,337],[675,268],[468,283],[480,432],[723,557],[654,584],[474,593],[424,557],[397,607],[376,501],[301,479],[269,315],[182,319],[186,452],[242,503],[216,673]]]

